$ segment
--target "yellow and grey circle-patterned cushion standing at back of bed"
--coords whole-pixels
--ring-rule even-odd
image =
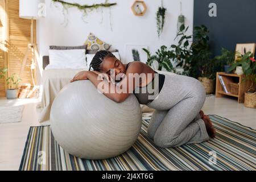
[[[109,50],[110,44],[103,42],[98,39],[94,34],[90,32],[87,40],[85,41],[85,45],[87,45],[87,49],[91,50],[90,52],[97,52],[101,50]]]

